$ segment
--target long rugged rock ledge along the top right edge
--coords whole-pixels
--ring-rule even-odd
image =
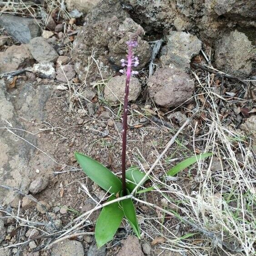
[[[236,26],[255,30],[254,0],[123,0],[127,11],[152,33],[163,28],[188,31],[213,43]],[[220,17],[221,15],[221,17]],[[139,20],[139,21],[137,21]],[[168,30],[167,30],[168,31]]]

